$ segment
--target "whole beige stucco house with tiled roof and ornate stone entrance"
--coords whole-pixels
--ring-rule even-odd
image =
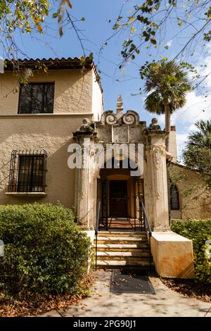
[[[146,123],[136,111],[124,112],[121,96],[115,111],[103,111],[90,58],[20,60],[18,71],[33,73],[27,85],[18,84],[13,64],[7,61],[0,75],[0,204],[60,202],[75,208],[92,237],[99,218],[99,266],[148,266],[151,250],[160,275],[193,277],[192,242],[170,231],[170,213],[207,218],[210,197],[198,172],[177,165],[175,127],[170,155],[157,119]],[[186,175],[170,199],[167,159],[170,177]],[[193,204],[182,192],[196,180]]]

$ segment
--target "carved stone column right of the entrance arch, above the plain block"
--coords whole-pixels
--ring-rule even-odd
[[[165,131],[160,129],[158,120],[153,118],[145,132],[147,161],[145,202],[153,231],[170,230],[165,136]]]

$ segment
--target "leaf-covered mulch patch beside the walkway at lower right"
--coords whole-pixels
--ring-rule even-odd
[[[169,288],[189,298],[211,302],[211,286],[196,283],[194,280],[179,280],[162,278],[162,282]]]

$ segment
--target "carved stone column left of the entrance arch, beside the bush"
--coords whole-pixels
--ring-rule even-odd
[[[92,230],[90,215],[90,150],[96,137],[94,127],[84,118],[82,127],[73,133],[82,155],[81,167],[75,168],[75,213],[79,224],[87,230]]]

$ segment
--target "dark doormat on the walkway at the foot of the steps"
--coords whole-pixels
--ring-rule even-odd
[[[142,270],[113,270],[110,292],[155,294],[151,281]]]

